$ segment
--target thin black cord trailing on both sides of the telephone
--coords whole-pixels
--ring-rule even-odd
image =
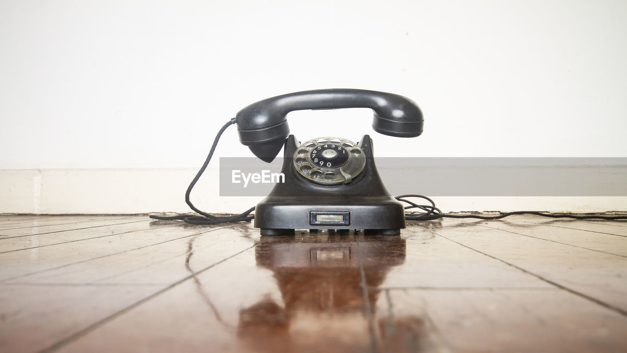
[[[163,220],[176,219],[176,220],[182,220],[182,221],[184,221],[186,223],[189,223],[189,224],[219,224],[219,223],[229,223],[229,222],[242,222],[242,221],[255,219],[255,215],[251,215],[250,214],[251,212],[253,212],[255,210],[255,207],[251,207],[250,209],[242,212],[241,214],[237,214],[237,215],[218,216],[218,215],[208,214],[207,212],[203,212],[203,211],[197,209],[196,206],[194,206],[194,204],[192,204],[192,202],[189,200],[189,194],[192,192],[192,189],[194,188],[194,185],[196,185],[196,182],[198,182],[198,179],[201,177],[201,175],[203,175],[204,170],[209,165],[209,161],[211,161],[211,157],[213,156],[213,153],[216,150],[216,146],[218,146],[218,141],[220,139],[220,136],[222,136],[222,133],[224,133],[224,130],[226,130],[226,128],[228,128],[232,124],[235,124],[235,118],[229,120],[218,131],[218,134],[216,134],[216,138],[213,140],[213,144],[211,145],[211,149],[209,150],[209,155],[207,156],[206,160],[203,163],[203,166],[201,166],[201,168],[198,171],[198,173],[196,173],[196,176],[194,176],[194,179],[192,180],[192,182],[189,183],[189,187],[187,187],[187,191],[185,192],[185,202],[187,203],[187,205],[189,206],[190,209],[194,210],[195,212],[198,212],[198,214],[182,214],[182,215],[172,215],[172,216],[167,216],[167,215],[150,215],[150,218],[152,218],[152,219],[163,219]],[[427,200],[431,205],[418,205],[418,204],[416,204],[414,202],[411,202],[411,201],[407,200],[408,197],[423,198],[424,200]],[[409,206],[405,207],[406,210],[409,210],[409,209],[420,209],[420,210],[425,211],[424,213],[423,212],[406,212],[405,213],[405,219],[407,219],[407,220],[433,220],[433,219],[439,219],[439,218],[501,219],[503,217],[507,217],[508,215],[515,215],[515,214],[533,214],[533,215],[541,215],[543,217],[572,218],[572,219],[608,219],[608,220],[609,219],[614,219],[614,220],[616,220],[616,219],[627,219],[627,215],[624,215],[624,216],[604,216],[604,215],[544,214],[542,212],[536,212],[536,211],[506,212],[506,213],[502,213],[500,215],[495,215],[495,216],[485,216],[485,215],[451,215],[451,214],[443,214],[442,211],[440,209],[438,209],[438,207],[435,206],[435,202],[433,202],[433,200],[431,200],[431,198],[428,198],[428,197],[423,196],[423,195],[401,195],[401,196],[397,196],[395,198],[396,198],[396,200],[399,200],[401,202],[405,202],[406,204],[409,204]]]

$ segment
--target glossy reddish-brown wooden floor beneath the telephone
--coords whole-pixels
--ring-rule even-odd
[[[1,352],[626,352],[627,222],[0,216]]]

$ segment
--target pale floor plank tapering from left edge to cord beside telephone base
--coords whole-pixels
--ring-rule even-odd
[[[167,223],[167,221],[166,221]],[[171,224],[172,221],[169,221]],[[162,223],[161,223],[162,224]],[[105,258],[134,249],[155,246],[176,239],[183,239],[219,227],[186,226],[147,229],[106,238],[87,239],[79,242],[67,242],[54,246],[0,254],[0,281],[16,280],[21,276],[33,276],[50,269]],[[89,234],[85,234],[89,237]],[[61,271],[64,271],[61,269]]]

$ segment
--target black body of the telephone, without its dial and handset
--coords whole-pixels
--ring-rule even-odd
[[[293,155],[298,141],[293,135],[285,140],[282,173],[285,183],[277,183],[268,197],[255,209],[255,227],[262,236],[290,234],[293,229],[376,229],[384,235],[399,234],[405,228],[403,205],[389,195],[372,158],[372,140],[366,135],[359,146],[366,166],[352,182],[318,185],[298,174]],[[312,212],[346,214],[342,222],[315,224]]]

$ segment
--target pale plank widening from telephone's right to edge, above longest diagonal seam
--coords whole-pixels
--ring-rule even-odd
[[[627,313],[627,258],[459,220],[429,231]]]

